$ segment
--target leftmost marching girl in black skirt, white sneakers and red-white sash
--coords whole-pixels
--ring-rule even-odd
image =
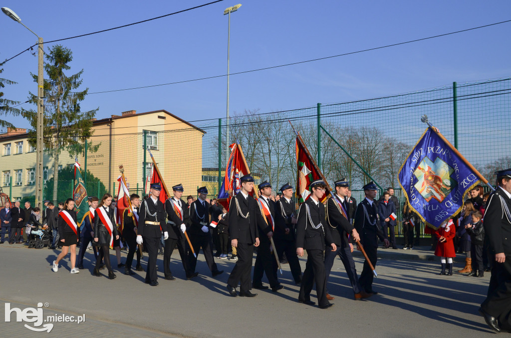
[[[53,261],[53,271],[57,272],[59,269],[59,261],[67,256],[71,251],[71,273],[77,274],[80,272],[75,267],[76,263],[76,245],[78,244],[78,225],[76,224],[76,211],[75,200],[68,198],[65,201],[64,209],[59,212],[59,219],[57,225],[59,228],[59,237],[62,245],[62,252]]]

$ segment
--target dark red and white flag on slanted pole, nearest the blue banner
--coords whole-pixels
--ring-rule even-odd
[[[298,167],[296,175],[296,198],[298,199],[298,203],[302,203],[311,195],[309,187],[311,182],[322,180],[323,175],[319,171],[316,161],[310,156],[307,147],[299,136],[296,136],[296,165]],[[324,193],[323,201],[329,196],[330,190],[327,184],[327,190]]]

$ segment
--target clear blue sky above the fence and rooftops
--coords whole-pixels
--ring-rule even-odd
[[[449,33],[511,19],[510,1],[267,1],[239,0],[231,14],[231,73]],[[124,25],[208,2],[2,1],[45,41]],[[90,92],[226,74],[226,7],[218,4],[111,32],[63,41],[73,51],[71,73],[84,69]],[[262,112],[395,94],[511,75],[511,23],[324,61],[230,78],[230,111]],[[0,13],[0,59],[36,42]],[[48,45],[45,45],[47,49]],[[18,82],[6,97],[26,101],[35,92],[25,53],[1,75]],[[29,109],[29,104],[23,105]],[[226,78],[115,93],[91,94],[82,110],[98,118],[126,110],[168,110],[184,119],[226,113]],[[17,127],[22,119],[7,117]]]

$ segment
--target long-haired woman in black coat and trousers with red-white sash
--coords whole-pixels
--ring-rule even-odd
[[[100,246],[100,251],[98,258],[96,259],[96,267],[94,268],[94,275],[101,276],[99,272],[99,267],[101,264],[101,260],[104,258],[106,268],[108,269],[108,278],[114,279],[115,274],[112,271],[112,267],[110,265],[110,243],[111,239],[119,239],[119,233],[117,232],[117,226],[115,225],[115,216],[113,214],[113,209],[110,208],[110,204],[112,204],[112,195],[105,194],[101,199],[99,206],[94,211],[94,242],[98,243]],[[104,224],[102,218],[105,219],[105,222],[108,223],[110,220],[110,224],[112,225],[110,235],[110,227],[107,224]]]

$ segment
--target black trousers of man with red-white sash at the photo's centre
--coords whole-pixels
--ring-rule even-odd
[[[263,283],[263,274],[266,273],[266,278],[270,283],[270,287],[275,287],[280,282],[277,279],[277,261],[275,254],[270,251],[270,239],[265,234],[262,234],[259,247],[257,248],[257,256],[255,257],[254,276],[252,278],[253,285],[261,285]]]

